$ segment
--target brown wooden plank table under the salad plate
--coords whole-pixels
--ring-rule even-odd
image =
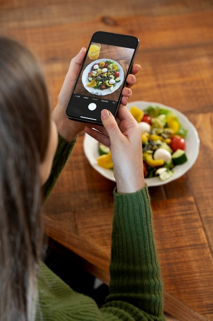
[[[70,58],[93,32],[140,39],[135,62],[142,68],[132,101],[176,108],[195,125],[201,142],[190,171],[149,188],[164,310],[179,320],[213,320],[212,0],[2,0],[0,30],[40,57],[54,105]],[[91,168],[82,144],[83,134],[45,205],[45,233],[108,283],[115,183]]]

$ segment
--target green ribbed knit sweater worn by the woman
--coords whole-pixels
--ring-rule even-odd
[[[52,174],[43,188],[45,197],[74,145],[59,137]],[[38,292],[37,321],[165,320],[147,186],[131,194],[114,190],[109,295],[100,309],[93,299],[70,289],[43,263]]]

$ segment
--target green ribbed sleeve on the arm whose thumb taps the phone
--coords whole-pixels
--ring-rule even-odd
[[[115,189],[109,295],[102,311],[118,319],[164,320],[162,298],[148,187],[131,194]]]

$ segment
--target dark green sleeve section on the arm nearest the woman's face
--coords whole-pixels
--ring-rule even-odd
[[[70,154],[73,151],[76,142],[77,138],[74,142],[69,143],[61,135],[58,135],[58,147],[53,159],[52,170],[48,180],[42,186],[42,195],[44,201],[49,197],[51,191],[53,190],[61,171],[63,170]]]

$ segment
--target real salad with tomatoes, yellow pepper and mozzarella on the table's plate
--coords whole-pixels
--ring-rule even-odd
[[[145,177],[169,179],[174,174],[175,166],[187,162],[187,130],[179,123],[174,111],[157,105],[150,105],[145,110],[132,106],[130,112],[141,129]],[[109,148],[99,144],[99,154],[98,164],[113,169]]]

